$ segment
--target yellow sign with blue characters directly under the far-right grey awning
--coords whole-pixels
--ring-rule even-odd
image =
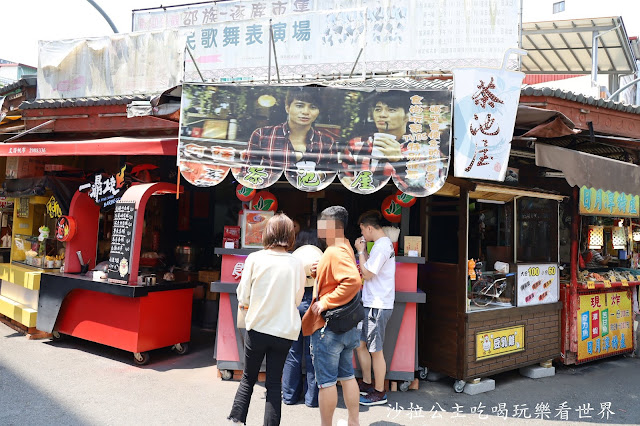
[[[583,186],[580,188],[580,214],[640,217],[640,197]]]

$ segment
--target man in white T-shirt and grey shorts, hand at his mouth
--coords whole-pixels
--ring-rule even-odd
[[[382,214],[377,210],[365,212],[358,219],[362,237],[356,240],[360,270],[364,277],[362,302],[365,318],[362,321],[360,347],[356,349],[362,369],[360,385],[361,405],[387,403],[384,391],[386,362],[382,353],[384,332],[393,312],[396,291],[396,261],[393,244],[382,229]],[[373,241],[367,254],[366,242]],[[375,383],[371,380],[371,367]]]

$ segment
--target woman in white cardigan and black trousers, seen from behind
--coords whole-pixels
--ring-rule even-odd
[[[293,248],[293,221],[277,214],[267,222],[264,250],[247,256],[236,293],[246,309],[244,372],[228,419],[246,423],[253,386],[262,360],[267,358],[265,425],[279,425],[282,407],[282,369],[291,343],[300,333],[297,306],[304,294],[301,262],[287,251]]]

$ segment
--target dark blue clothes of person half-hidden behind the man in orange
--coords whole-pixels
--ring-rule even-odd
[[[313,297],[313,287],[307,287],[304,290],[302,302],[298,306],[298,311],[302,317]],[[318,406],[318,386],[316,386],[316,376],[313,370],[313,361],[309,346],[311,338],[304,337],[302,332],[298,336],[298,340],[293,342],[287,359],[284,362],[284,370],[282,371],[282,401],[285,404],[296,404],[300,400],[300,396],[304,393],[304,403],[309,407]],[[302,374],[302,366],[305,366],[305,376]]]

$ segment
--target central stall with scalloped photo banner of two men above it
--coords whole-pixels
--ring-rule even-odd
[[[273,211],[281,210],[294,219],[306,218],[300,224],[313,229],[325,207],[342,205],[350,214],[345,232],[351,241],[360,235],[355,222],[366,210],[379,209],[397,224],[396,299],[384,352],[387,379],[399,381],[401,390],[414,380],[420,370],[417,305],[425,301],[418,289],[418,268],[424,257],[423,215],[417,201],[437,191],[447,175],[451,92],[404,87],[376,91],[183,85],[178,164],[185,180],[211,187],[219,201],[216,226],[225,228],[216,233],[220,235],[215,250],[222,261],[220,281],[211,283],[211,291],[220,293],[214,357],[223,379],[244,367],[244,331],[236,327],[235,292],[246,256],[262,246],[260,226]],[[374,122],[373,109],[382,102],[378,100],[381,93],[387,96],[385,102],[401,98],[405,113],[398,114],[399,124],[389,119]],[[295,123],[295,100],[317,111],[305,112]],[[277,145],[292,137],[288,135],[297,130],[296,125],[308,139],[302,155],[289,151],[286,144]],[[402,141],[398,144],[402,160],[395,165],[371,149],[376,130],[381,127],[391,134],[392,125],[402,132],[400,137],[392,135]],[[261,145],[266,143],[276,145]],[[393,173],[394,168],[400,172]],[[229,174],[233,180],[227,178]]]

